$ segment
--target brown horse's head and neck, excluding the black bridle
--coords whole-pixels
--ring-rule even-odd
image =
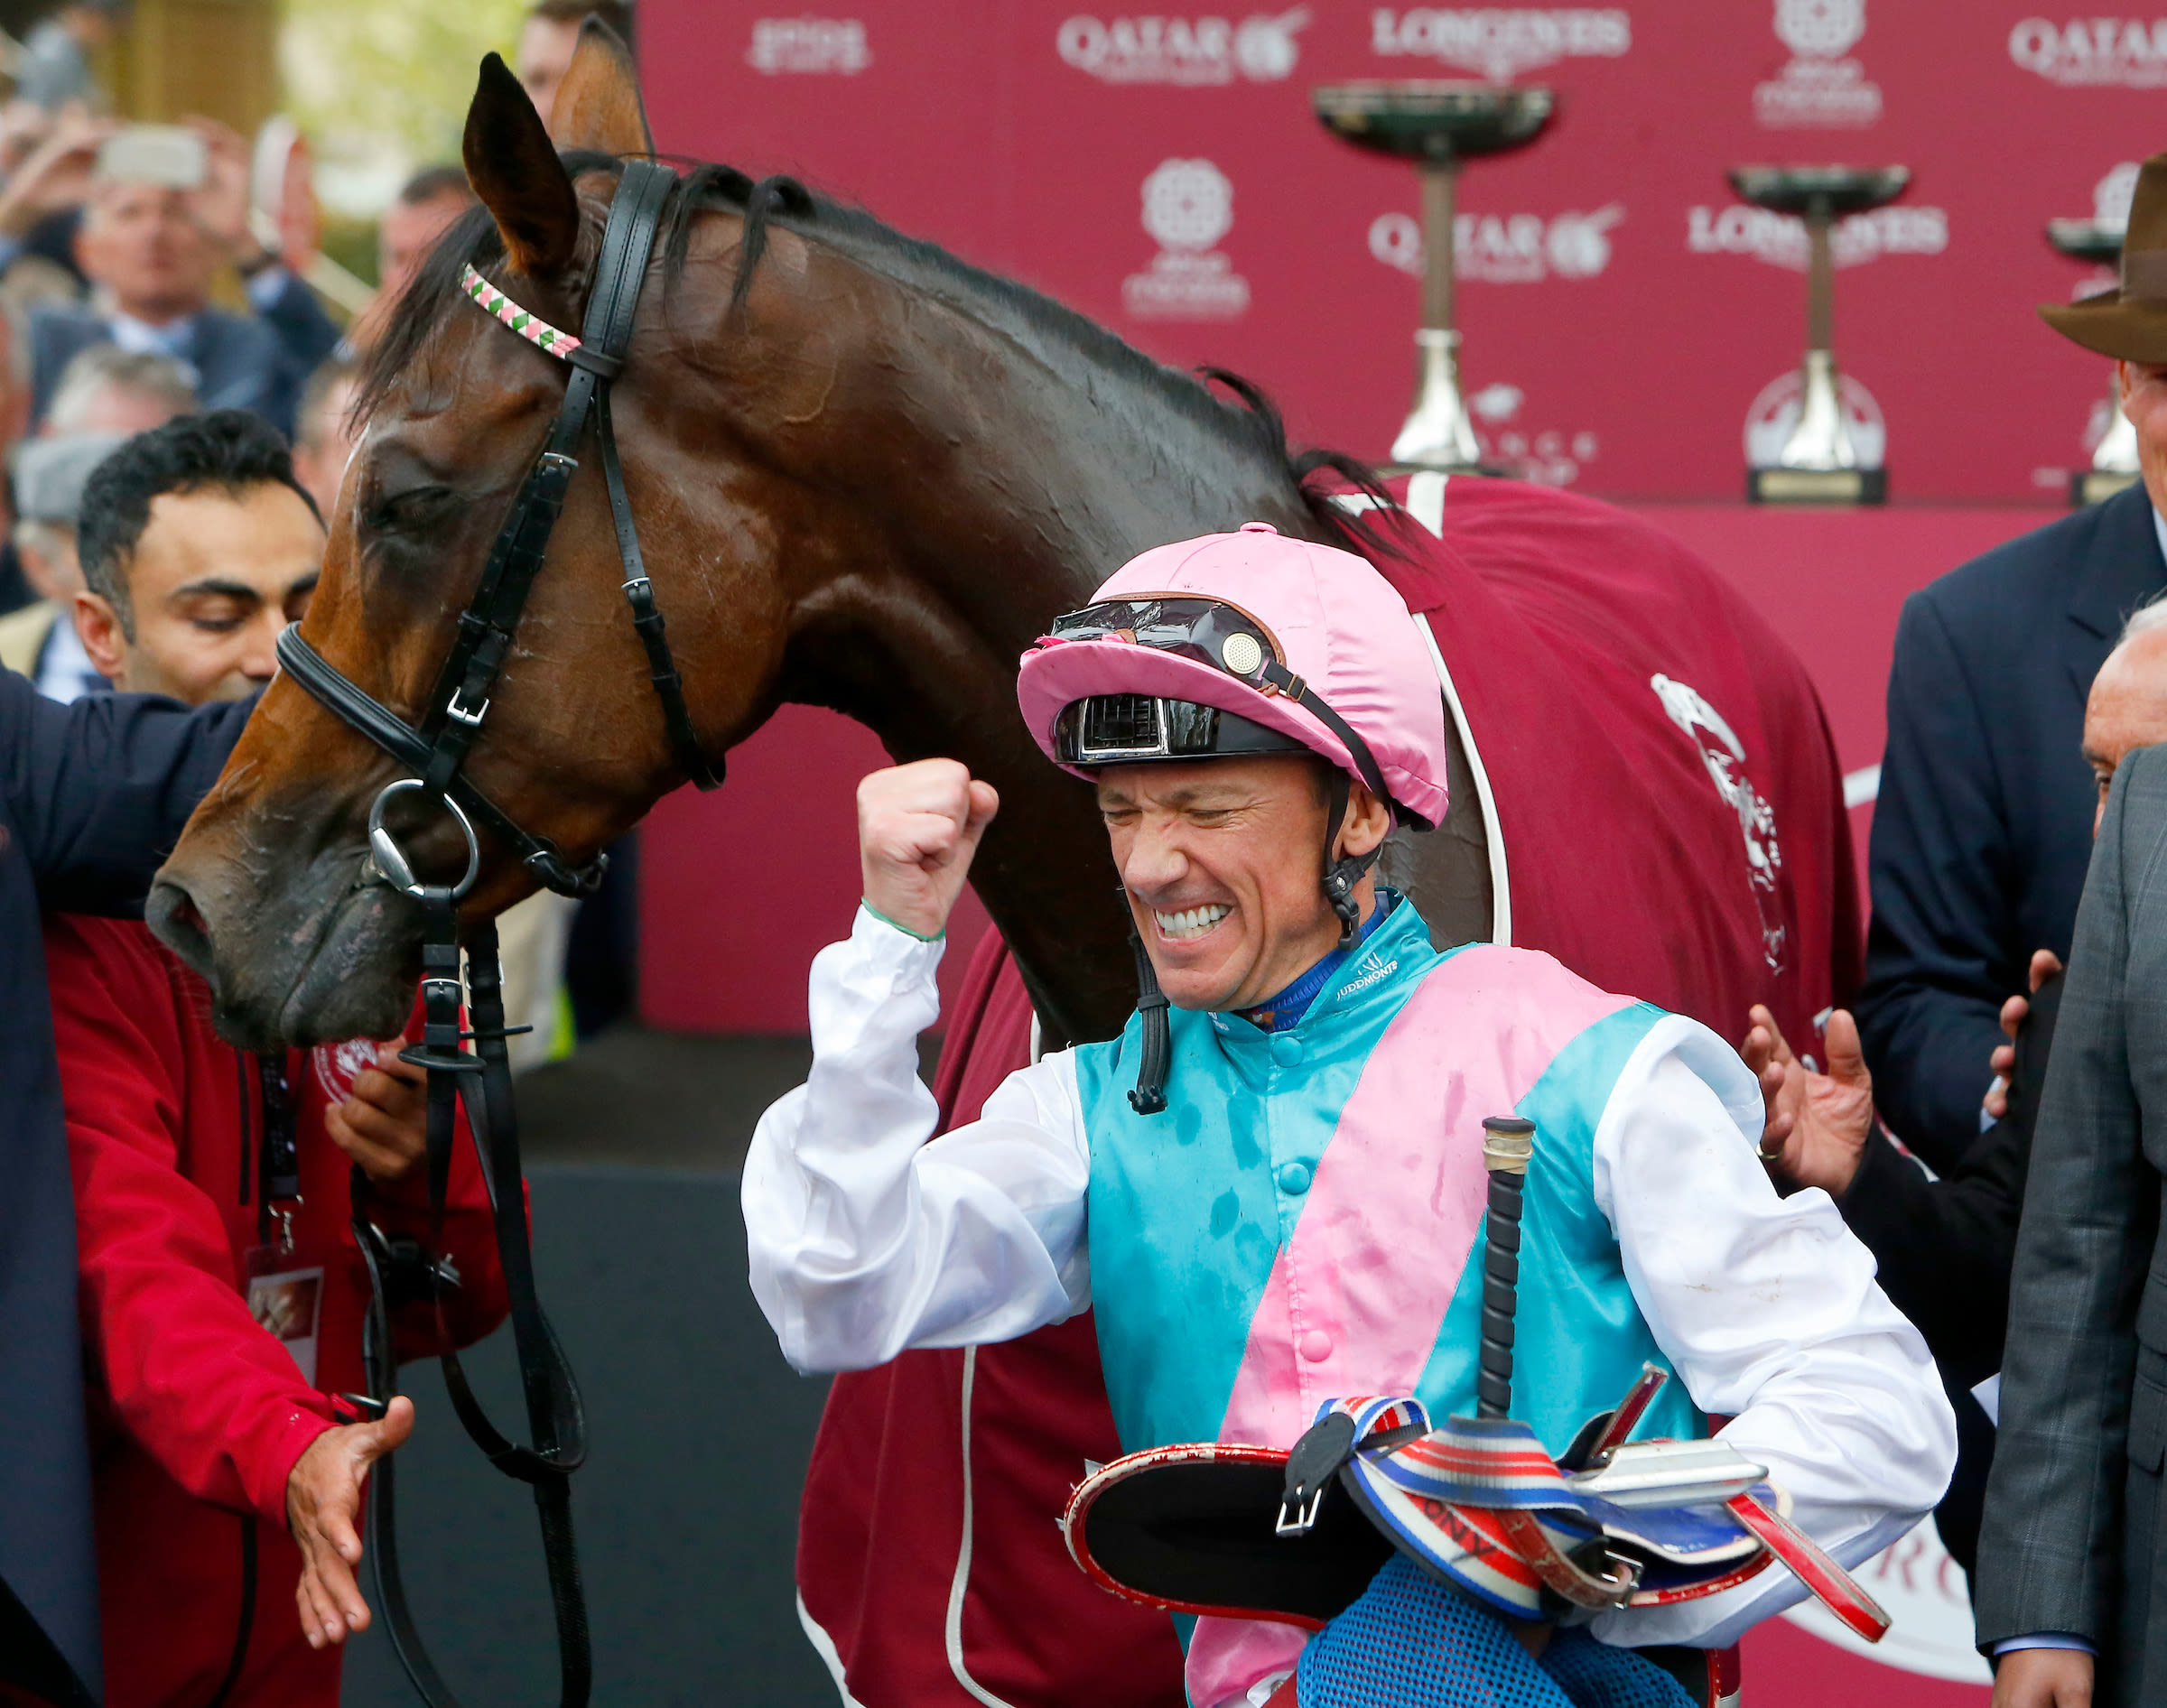
[[[570,384],[507,327],[581,327],[622,163],[652,154],[628,56],[583,37],[555,137],[488,59],[464,154],[481,206],[373,353],[299,629],[410,726],[442,704],[459,611]],[[802,700],[873,726],[897,759],[964,759],[1005,802],[973,882],[1049,1034],[1107,1036],[1133,1001],[1114,871],[1090,789],[1016,715],[1016,659],[1146,546],[1250,518],[1333,538],[1276,416],[789,180],[696,167],[661,221],[609,410],[698,748],[719,756]],[[563,867],[687,778],[594,449],[589,431],[464,761],[501,824],[546,837]],[[405,1021],[420,910],[384,882],[366,824],[410,774],[293,674],[264,694],[150,902],[228,1036]],[[414,867],[451,882],[468,845],[442,804],[412,789],[386,806]],[[784,895],[791,826],[743,834],[774,845]],[[483,824],[462,919],[535,882]]]

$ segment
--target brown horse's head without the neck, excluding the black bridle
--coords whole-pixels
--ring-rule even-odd
[[[366,429],[303,626],[323,659],[410,724],[568,381],[533,342],[479,308],[459,312],[457,273],[475,264],[522,308],[579,327],[618,156],[652,143],[628,63],[598,33],[583,39],[557,102],[555,141],[505,65],[485,61],[464,152],[481,208],[440,245],[375,353]],[[639,544],[676,618],[691,711],[719,754],[774,704],[791,503],[750,457],[717,455],[717,375],[689,375],[676,360],[687,332],[713,329],[728,299],[693,271],[667,312],[661,290],[641,297],[613,388],[615,434]],[[743,303],[737,319],[752,319]],[[778,303],[776,336],[791,336],[787,319]],[[748,360],[758,345],[745,340]],[[765,394],[780,403],[787,390]],[[730,427],[754,427],[748,412],[728,414]],[[683,780],[620,594],[592,451],[589,431],[468,767],[507,819],[574,863]],[[401,774],[290,676],[264,694],[150,902],[154,928],[210,978],[230,1036],[267,1045],[403,1025],[416,906],[375,880],[364,843],[371,802]],[[455,874],[466,850],[451,817],[420,800],[401,808],[392,828],[416,865]],[[531,889],[535,876],[490,843],[464,913],[494,915]]]

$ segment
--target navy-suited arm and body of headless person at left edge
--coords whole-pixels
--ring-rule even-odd
[[[126,913],[251,702],[59,707],[0,672],[0,1686],[100,1695],[76,1216],[39,908]]]

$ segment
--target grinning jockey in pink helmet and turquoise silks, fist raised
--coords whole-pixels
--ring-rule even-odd
[[[1474,1413],[1482,1118],[1519,1114],[1539,1142],[1513,1415],[1554,1457],[1656,1363],[1675,1381],[1645,1433],[1729,1415],[1725,1441],[1842,1563],[1933,1506],[1955,1459],[1933,1361],[1829,1199],[1777,1199],[1736,1051],[1543,954],[1439,954],[1376,882],[1393,821],[1443,819],[1445,728],[1428,644],[1372,566],[1263,522],[1159,546],[1055,620],[1018,700],[1099,791],[1138,1014],[927,1144],[914,1038],[999,802],[945,759],[860,785],[865,904],[813,965],[813,1071],[743,1177],[752,1290],[791,1363],[867,1368],[1094,1309],[1125,1452],[1289,1448],[1359,1394]],[[1508,1632],[1393,1561],[1313,1641],[1198,1619],[1188,1691],[1337,1708],[1378,1699],[1350,1680],[1398,1673],[1406,1704],[1682,1704],[1632,1647],[1725,1647],[1803,1593],[1766,1571]],[[1439,1652],[1456,1660],[1404,1695],[1391,1654]]]

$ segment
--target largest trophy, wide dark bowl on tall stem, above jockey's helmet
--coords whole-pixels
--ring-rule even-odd
[[[1461,163],[1532,143],[1556,111],[1547,89],[1489,82],[1333,82],[1311,91],[1324,128],[1357,147],[1413,160],[1422,173],[1422,329],[1415,407],[1391,442],[1391,475],[1482,466],[1461,397],[1461,334],[1452,316],[1454,212]]]

